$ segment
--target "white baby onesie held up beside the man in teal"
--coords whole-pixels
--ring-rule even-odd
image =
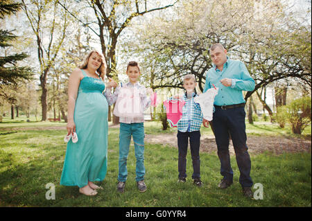
[[[214,98],[218,94],[219,88],[208,89],[205,93],[200,94],[194,98],[196,103],[200,104],[200,109],[202,109],[202,115],[207,121],[212,121],[212,114],[214,111]]]

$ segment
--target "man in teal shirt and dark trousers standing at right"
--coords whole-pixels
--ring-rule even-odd
[[[233,183],[233,170],[229,161],[229,135],[236,154],[237,165],[241,173],[239,182],[243,187],[243,195],[253,197],[250,177],[251,161],[246,145],[245,132],[245,100],[242,91],[254,90],[254,80],[250,77],[245,64],[230,60],[222,44],[214,44],[209,50],[213,67],[207,71],[204,92],[218,87],[214,100],[215,112],[212,120],[214,135],[220,159],[220,173],[223,179],[219,188],[227,188]],[[205,127],[209,121],[203,120]]]

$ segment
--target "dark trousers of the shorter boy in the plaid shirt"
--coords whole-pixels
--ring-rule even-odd
[[[179,178],[187,177],[187,146],[190,144],[193,163],[192,178],[200,178],[200,131],[180,132],[177,131],[177,147],[179,150],[178,170]]]

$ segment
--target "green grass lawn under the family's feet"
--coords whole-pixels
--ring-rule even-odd
[[[0,206],[311,206],[311,153],[252,155],[251,176],[263,185],[263,200],[243,197],[235,156],[231,158],[234,184],[218,189],[220,163],[216,154],[200,153],[201,188],[193,185],[191,154],[187,157],[187,182],[177,183],[177,148],[160,144],[145,146],[146,184],[139,193],[135,183],[133,144],[128,157],[125,193],[116,192],[119,128],[109,129],[108,170],[94,197],[78,193],[76,186],[60,186],[66,152],[66,130],[34,130],[33,127],[64,126],[65,123],[0,123]],[[24,127],[23,130],[14,130]],[[29,127],[29,129],[27,129]],[[291,136],[288,129],[257,123],[247,125],[248,134]],[[160,124],[145,123],[147,134],[164,134]],[[13,130],[12,130],[13,129]],[[171,128],[168,132],[175,133]],[[211,133],[210,128],[202,132]],[[311,126],[304,131],[311,137]],[[55,200],[46,200],[46,184],[55,184]],[[254,189],[256,191],[256,189]]]

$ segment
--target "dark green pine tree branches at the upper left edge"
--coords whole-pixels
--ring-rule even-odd
[[[8,0],[0,2],[0,20],[5,15],[15,14],[21,5],[19,3],[11,3]],[[0,30],[0,48],[12,46],[9,42],[16,39],[17,36],[10,30]],[[0,89],[1,85],[16,85],[21,80],[31,79],[32,72],[29,67],[18,67],[17,62],[24,60],[28,55],[26,53],[16,53],[13,55],[0,54]]]

